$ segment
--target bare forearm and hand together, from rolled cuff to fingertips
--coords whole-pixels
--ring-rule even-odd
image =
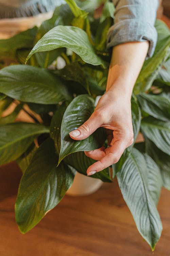
[[[148,48],[148,41],[129,42],[113,47],[106,93],[100,98],[90,118],[77,130],[69,133],[74,140],[84,140],[97,128],[106,129],[108,147],[85,152],[86,156],[97,160],[88,167],[87,175],[116,163],[125,148],[133,143],[131,96]]]

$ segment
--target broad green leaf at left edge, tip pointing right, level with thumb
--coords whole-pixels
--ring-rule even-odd
[[[20,157],[39,134],[47,132],[48,128],[31,123],[0,126],[0,165]]]

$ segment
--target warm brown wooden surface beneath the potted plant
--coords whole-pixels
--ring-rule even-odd
[[[165,189],[158,204],[163,233],[152,253],[116,180],[90,196],[65,196],[23,235],[14,215],[21,172],[12,163],[0,168],[0,177],[0,256],[170,256],[170,193]]]

